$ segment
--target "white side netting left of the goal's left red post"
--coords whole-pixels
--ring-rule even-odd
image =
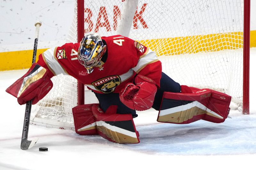
[[[77,42],[77,3],[66,42]],[[52,90],[31,108],[30,121],[50,128],[74,129],[72,108],[77,106],[77,80],[63,74],[51,80]]]

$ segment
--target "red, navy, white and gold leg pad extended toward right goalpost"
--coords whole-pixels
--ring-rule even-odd
[[[157,121],[187,124],[200,119],[220,123],[229,113],[231,97],[210,89],[194,93],[164,92]]]

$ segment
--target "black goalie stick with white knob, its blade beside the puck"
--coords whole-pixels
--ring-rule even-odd
[[[38,43],[38,35],[39,35],[39,28],[42,25],[41,21],[36,21],[35,26],[36,26],[36,38],[35,38],[35,43],[34,43],[34,50],[33,50],[33,59],[32,59],[32,64],[36,62],[36,50],[37,50],[37,43]],[[37,140],[28,140],[28,127],[29,127],[29,121],[30,121],[30,114],[31,114],[31,106],[32,106],[32,100],[28,101],[26,103],[26,109],[25,109],[25,118],[24,118],[24,123],[23,123],[23,130],[22,130],[22,137],[21,137],[21,143],[20,143],[20,149],[22,150],[27,150],[33,147]]]

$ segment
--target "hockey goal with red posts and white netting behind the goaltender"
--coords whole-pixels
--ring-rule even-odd
[[[77,0],[67,42],[87,33],[139,41],[181,85],[227,93],[249,114],[249,0]],[[73,129],[72,107],[84,103],[84,85],[64,75],[52,81],[53,89],[32,107],[31,122]]]

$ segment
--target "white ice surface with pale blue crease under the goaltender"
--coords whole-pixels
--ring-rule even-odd
[[[185,125],[156,122],[154,110],[134,119],[139,144],[116,144],[100,136],[30,125],[29,150],[20,149],[25,106],[5,89],[27,70],[0,72],[0,169],[255,169],[256,48],[251,48],[250,115],[231,110],[225,122]],[[48,147],[48,152],[39,152]]]

